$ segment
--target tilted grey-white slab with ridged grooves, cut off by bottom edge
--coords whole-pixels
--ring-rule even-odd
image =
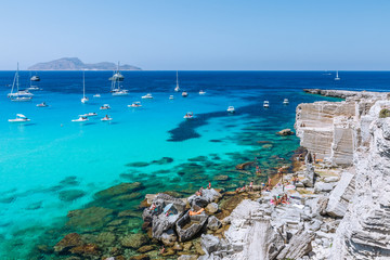
[[[312,250],[311,242],[315,238],[315,233],[304,231],[301,227],[277,255],[276,259],[298,259]]]

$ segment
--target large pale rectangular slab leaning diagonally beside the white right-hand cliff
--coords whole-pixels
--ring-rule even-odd
[[[343,217],[354,194],[354,179],[350,172],[343,172],[335,190],[329,194],[326,212],[333,217]]]

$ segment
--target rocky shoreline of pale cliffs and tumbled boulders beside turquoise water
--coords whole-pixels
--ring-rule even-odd
[[[389,258],[388,93],[306,92],[346,100],[298,105],[295,128],[304,148],[296,154],[294,170],[281,168],[270,186],[248,183],[235,192],[207,187],[188,197],[147,194],[140,206],[144,233],[120,238],[121,221],[134,213],[94,208],[92,222],[116,216],[110,229],[93,239],[92,233],[66,234],[53,249],[41,250],[69,260]],[[236,170],[252,165],[237,165]],[[141,185],[119,184],[96,195],[131,196]],[[68,223],[75,218],[77,224],[94,223],[86,209],[68,217]],[[109,246],[116,239],[119,246]]]

